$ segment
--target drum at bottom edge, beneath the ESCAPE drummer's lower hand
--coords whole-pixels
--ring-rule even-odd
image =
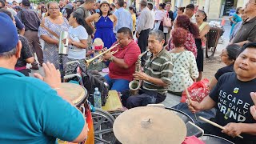
[[[234,144],[225,138],[211,134],[204,134],[202,137],[199,137],[199,139],[206,144]]]

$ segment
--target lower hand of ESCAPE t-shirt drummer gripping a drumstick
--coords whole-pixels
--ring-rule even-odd
[[[237,137],[242,133],[242,123],[234,123],[230,122],[226,126],[224,126],[224,130],[222,133],[230,135],[230,137]]]

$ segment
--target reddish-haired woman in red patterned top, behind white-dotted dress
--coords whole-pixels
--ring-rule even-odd
[[[183,28],[187,30],[186,42],[184,44],[186,50],[191,51],[194,54],[194,57],[197,56],[197,46],[195,45],[194,38],[198,38],[199,29],[198,26],[194,23],[190,22],[190,18],[186,14],[178,15],[176,18],[175,28]],[[166,45],[166,50],[174,49],[174,43],[172,42],[172,35],[170,34],[170,38]]]

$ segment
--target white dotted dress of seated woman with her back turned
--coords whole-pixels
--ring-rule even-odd
[[[185,85],[189,87],[194,82],[192,78],[198,78],[199,75],[194,54],[191,51],[184,51],[181,53],[170,53],[173,58],[174,68],[173,76],[171,77],[171,84],[168,90],[172,92],[182,92],[184,90],[181,78],[184,78]]]

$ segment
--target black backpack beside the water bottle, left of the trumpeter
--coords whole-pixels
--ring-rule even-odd
[[[105,106],[109,93],[109,86],[106,79],[96,70],[86,70],[85,73],[82,73],[82,81],[89,94],[89,102],[94,105],[94,88],[98,87],[98,90],[101,92],[102,106]]]

